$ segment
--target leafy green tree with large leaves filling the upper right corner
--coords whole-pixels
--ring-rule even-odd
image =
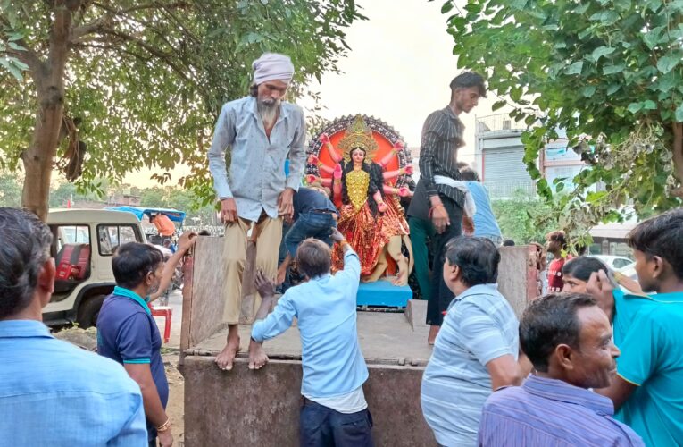
[[[442,12],[458,65],[486,73],[510,98],[494,109],[512,105],[529,125],[524,161],[563,227],[621,219],[626,204],[641,216],[681,205],[683,2],[449,0]],[[554,199],[536,161],[557,129],[591,169]]]

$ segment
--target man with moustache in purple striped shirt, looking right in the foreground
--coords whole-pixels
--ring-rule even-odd
[[[520,346],[537,373],[487,399],[480,446],[645,445],[612,418],[610,399],[588,390],[612,383],[620,354],[595,299],[553,293],[532,301],[521,316]]]

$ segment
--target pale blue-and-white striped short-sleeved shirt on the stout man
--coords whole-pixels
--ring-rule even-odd
[[[479,284],[455,297],[422,376],[422,414],[437,442],[477,443],[484,401],[491,394],[486,364],[519,352],[517,317],[497,290]]]

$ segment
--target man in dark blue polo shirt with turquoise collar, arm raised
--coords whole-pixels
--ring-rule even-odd
[[[179,252],[192,245],[192,233],[179,240]],[[104,299],[97,317],[97,352],[112,358],[140,385],[145,405],[149,445],[171,446],[171,421],[165,408],[169,384],[163,368],[162,338],[147,305],[150,293],[159,288],[163,272],[162,252],[152,245],[129,242],[112,257],[116,287]]]

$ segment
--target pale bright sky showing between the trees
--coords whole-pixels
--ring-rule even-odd
[[[454,39],[446,33],[443,1],[358,0],[367,21],[355,21],[347,30],[351,51],[338,62],[341,73],[326,73],[312,85],[321,97],[321,116],[334,119],[346,114],[366,114],[387,122],[404,137],[412,155],[418,156],[422,124],[431,112],[450,99],[448,84],[460,70],[453,55]],[[460,0],[457,4],[466,4]],[[496,97],[488,95],[470,114],[462,114],[466,126],[465,148],[459,157],[474,159],[475,116],[493,114]],[[297,104],[312,105],[303,98]],[[129,174],[125,182],[139,187],[156,184],[152,171]],[[171,183],[183,174],[171,173]]]

